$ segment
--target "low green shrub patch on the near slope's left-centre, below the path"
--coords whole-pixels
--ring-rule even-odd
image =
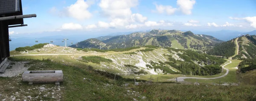
[[[110,63],[110,62],[113,62],[110,59],[102,58],[102,57],[99,57],[99,56],[87,56],[87,57],[82,56],[82,58],[83,58],[84,62],[87,62],[87,61],[88,62],[92,62],[92,63],[100,63],[100,62],[108,62],[108,63]]]

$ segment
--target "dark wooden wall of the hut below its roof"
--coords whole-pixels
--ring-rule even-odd
[[[10,56],[8,21],[0,21],[0,63]]]

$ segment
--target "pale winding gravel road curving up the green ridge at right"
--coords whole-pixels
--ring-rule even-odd
[[[238,40],[238,38],[236,38],[237,52],[236,52],[236,54],[235,54],[234,56],[238,55],[238,52],[239,52],[239,45],[238,45],[238,43],[237,43],[237,40]],[[230,63],[232,63],[231,60],[232,60],[232,58],[233,58],[234,56],[230,57],[230,60],[228,60],[228,61],[230,61]],[[226,68],[224,68],[224,66],[226,66],[227,64],[230,64],[230,63],[224,64],[224,65],[222,66],[222,68],[223,68],[223,69],[226,69]],[[228,70],[228,69],[226,69],[226,70],[227,70],[227,72],[226,72],[224,75],[221,75],[221,76],[215,77],[215,78],[177,77],[177,81],[178,81],[178,82],[183,82],[184,79],[186,79],[186,78],[195,78],[195,79],[216,79],[216,78],[222,78],[222,77],[224,77],[224,76],[226,76],[226,75],[228,74],[229,70]],[[172,79],[171,79],[171,80],[172,80]]]

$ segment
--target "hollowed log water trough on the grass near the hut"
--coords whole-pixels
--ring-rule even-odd
[[[62,70],[42,70],[42,71],[25,71],[22,74],[22,81],[33,83],[53,83],[56,86],[60,85],[63,81]]]

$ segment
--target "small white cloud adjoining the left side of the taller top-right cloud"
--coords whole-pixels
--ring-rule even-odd
[[[157,4],[155,5],[156,5],[157,12],[159,13],[166,12],[166,14],[171,15],[171,14],[174,14],[175,11],[177,10],[176,8],[172,8],[172,6],[163,6],[163,5],[157,5]]]

